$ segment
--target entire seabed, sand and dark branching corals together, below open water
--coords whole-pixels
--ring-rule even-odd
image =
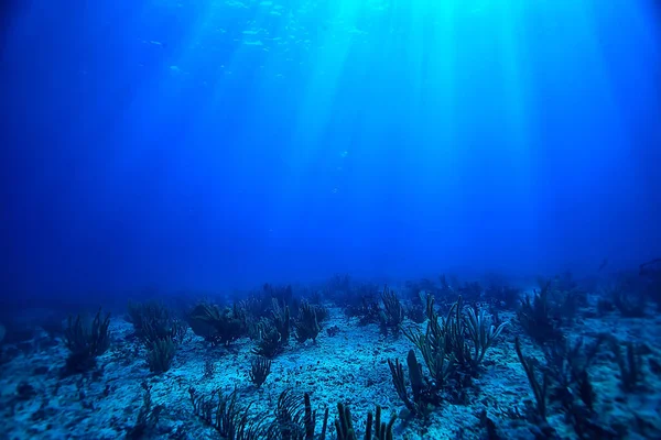
[[[3,439],[661,438],[661,266],[375,285],[335,276],[34,323]]]

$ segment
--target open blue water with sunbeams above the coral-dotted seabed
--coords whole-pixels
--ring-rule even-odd
[[[658,1],[10,3],[4,292],[661,250]]]

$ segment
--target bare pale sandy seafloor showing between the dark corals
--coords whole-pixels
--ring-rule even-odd
[[[392,384],[388,360],[404,362],[412,343],[400,336],[383,337],[378,326],[359,327],[357,319],[348,319],[339,308],[329,307],[329,319],[316,344],[299,344],[290,340],[286,350],[273,360],[271,375],[258,389],[249,380],[250,350],[254,342],[236,341],[230,348],[209,346],[188,329],[178,348],[170,371],[162,375],[150,373],[144,361],[144,349],[136,339],[128,338],[132,326],[123,317],[113,317],[111,348],[98,359],[94,374],[62,378],[67,349],[62,341],[40,340],[22,346],[3,346],[13,353],[0,365],[0,439],[118,439],[136,424],[143,404],[141,383],[151,386],[154,405],[163,405],[159,424],[144,438],[155,439],[218,439],[216,431],[205,426],[193,413],[188,389],[201,393],[237,389],[241,405],[251,404],[251,414],[272,415],[280,393],[293,388],[307,392],[313,407],[321,413],[330,408],[329,433],[335,438],[338,402],[349,404],[354,424],[362,438],[365,419],[375,405],[381,405],[384,415],[404,415],[404,406]],[[588,314],[589,315],[589,314]],[[503,314],[502,319],[514,319]],[[326,329],[337,326],[339,332],[330,337]],[[422,326],[421,326],[422,327]],[[610,426],[624,424],[633,427],[626,438],[661,439],[661,377],[650,360],[661,353],[661,318],[622,319],[613,314],[605,318],[579,319],[572,329],[574,337],[586,341],[599,332],[621,340],[644,344],[649,349],[643,363],[644,383],[635,393],[619,388],[619,371],[613,353],[602,349],[590,367],[597,393],[597,414]],[[444,403],[435,408],[427,420],[400,418],[394,425],[397,439],[480,439],[487,438],[480,427],[484,409],[496,422],[503,439],[532,439],[535,429],[524,419],[512,418],[523,414],[527,403],[533,400],[532,391],[513,349],[514,336],[520,334],[523,351],[542,360],[516,324],[509,326],[501,341],[487,353],[480,376],[469,393],[468,405]],[[213,360],[214,375],[205,376],[205,361]],[[419,355],[419,359],[420,355]],[[652,365],[652,366],[651,366]],[[408,376],[408,375],[407,375]],[[557,408],[549,409],[549,424],[560,438],[576,438],[565,417]],[[318,420],[318,428],[321,420]]]

